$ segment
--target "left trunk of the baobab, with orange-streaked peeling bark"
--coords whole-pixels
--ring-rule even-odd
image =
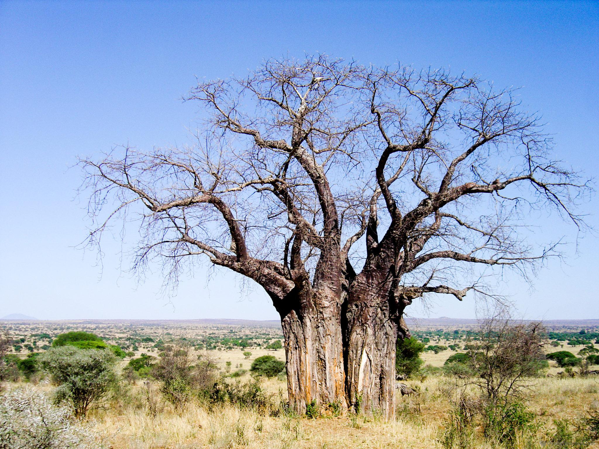
[[[338,298],[314,292],[309,287],[294,289],[280,309],[289,405],[305,413],[306,404],[316,401],[321,408],[337,404],[347,409],[341,311]]]

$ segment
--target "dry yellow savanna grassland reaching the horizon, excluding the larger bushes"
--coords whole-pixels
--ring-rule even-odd
[[[398,392],[395,419],[391,421],[383,421],[376,414],[355,415],[334,408],[314,409],[308,416],[289,412],[284,372],[256,377],[249,371],[252,362],[261,356],[285,360],[285,351],[274,349],[283,336],[278,323],[272,321],[2,324],[13,342],[10,353],[21,359],[47,350],[57,335],[74,330],[93,332],[125,351],[126,356],[118,362],[118,386],[101,407],[90,409],[85,419],[96,440],[108,448],[599,447],[597,442],[587,440],[583,444],[576,439],[583,418],[599,409],[599,375],[581,376],[577,368],[565,370],[553,360],[537,377],[527,380],[518,401],[530,414],[530,425],[519,429],[507,443],[483,438],[478,423],[465,424],[459,416],[456,418],[461,399],[475,398],[477,390],[442,367],[450,356],[464,352],[467,345],[477,341],[471,323],[423,320],[413,327],[413,335],[426,345],[421,354],[423,364],[418,373],[404,381],[416,393],[402,397]],[[561,323],[547,326],[547,331],[543,346],[546,353],[567,350],[576,355],[589,345],[599,348],[597,338],[589,340],[599,327]],[[210,360],[219,382],[233,392],[228,396],[231,399],[192,397],[179,407],[165,399],[161,382],[151,375],[127,377],[131,359],[147,354],[158,360],[159,354],[170,347],[187,348],[192,360]],[[595,369],[599,366],[591,366],[591,371]],[[20,377],[8,381],[5,386],[7,390],[27,386],[48,395],[56,388],[40,373],[29,380]],[[251,400],[246,401],[250,389],[244,386],[255,389]]]

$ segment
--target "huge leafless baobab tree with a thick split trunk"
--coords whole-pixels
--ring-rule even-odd
[[[186,99],[206,112],[193,145],[81,160],[89,242],[137,220],[135,269],[159,259],[176,281],[206,260],[262,286],[299,412],[314,399],[392,415],[404,309],[484,293],[486,271],[468,266],[527,272],[557,254],[519,232],[531,210],[580,225],[584,183],[549,158],[513,90],[475,77],[321,55],[202,81]]]

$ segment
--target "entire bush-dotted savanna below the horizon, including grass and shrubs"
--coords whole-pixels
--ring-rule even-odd
[[[72,323],[7,326],[0,447],[540,449],[599,442],[599,360],[592,357],[599,328],[547,332],[494,317],[470,329],[417,329],[422,341],[398,345],[409,394],[398,390],[389,420],[316,401],[304,414],[289,408],[284,351],[268,348],[280,329],[82,326],[86,332]],[[19,353],[10,344],[20,335],[49,336],[52,346]],[[77,338],[105,345],[87,348]],[[205,350],[202,341],[215,339],[225,346]],[[228,349],[231,341],[238,345]],[[142,348],[118,359],[110,349],[117,342]]]

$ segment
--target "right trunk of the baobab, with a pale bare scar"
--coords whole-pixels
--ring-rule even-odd
[[[347,304],[344,326],[349,406],[390,419],[395,415],[395,313],[379,298],[353,299]]]

